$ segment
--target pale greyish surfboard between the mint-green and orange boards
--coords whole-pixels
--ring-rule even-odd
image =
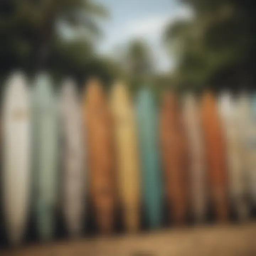
[[[60,133],[62,141],[63,215],[71,236],[82,232],[86,171],[82,136],[81,107],[75,84],[64,81],[60,93]]]

